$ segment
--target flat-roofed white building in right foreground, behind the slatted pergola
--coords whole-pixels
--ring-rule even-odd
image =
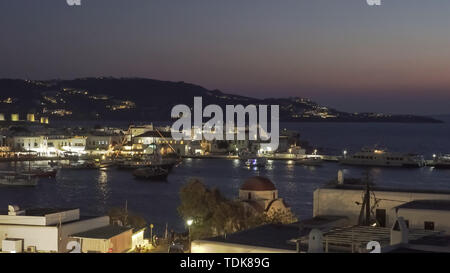
[[[313,216],[345,216],[357,224],[365,189],[345,183],[316,189]],[[370,203],[381,227],[392,226],[397,216],[403,216],[415,228],[450,230],[450,191],[372,187]]]

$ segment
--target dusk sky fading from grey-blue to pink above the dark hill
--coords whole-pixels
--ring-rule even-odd
[[[146,77],[450,113],[450,1],[2,0],[0,78]]]

